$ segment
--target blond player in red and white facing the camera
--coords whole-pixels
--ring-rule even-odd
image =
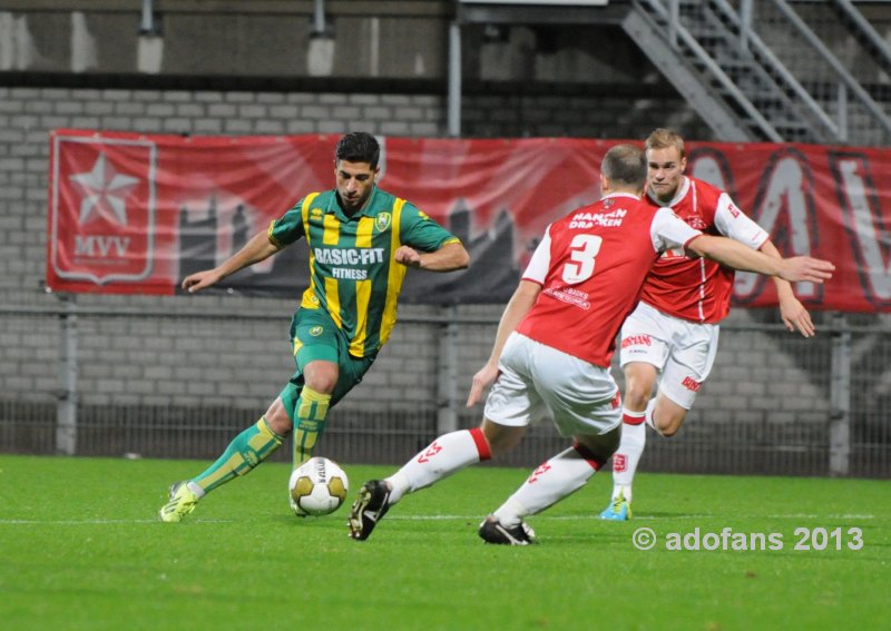
[[[646,140],[649,184],[645,199],[668,206],[689,226],[724,235],[772,257],[776,247],[725,191],[684,175],[684,139],[656,129]],[[681,428],[712,369],[718,323],[730,312],[734,270],[717,262],[666,252],[653,266],[640,304],[621,327],[619,363],[625,373],[621,443],[613,456],[613,496],[605,520],[631,516],[631,483],[646,444],[646,424],[664,436]],[[774,277],[780,312],[790,331],[814,333],[811,316],[789,282]],[[660,376],[659,376],[660,375]],[[658,395],[652,400],[658,377]]]

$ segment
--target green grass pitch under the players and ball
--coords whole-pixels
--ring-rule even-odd
[[[529,520],[538,545],[510,548],[477,526],[523,470],[466,470],[354,542],[345,507],[291,514],[277,463],[160,523],[167,485],[205,464],[0,456],[0,629],[891,628],[888,481],[645,473],[635,519],[607,523],[604,473]],[[344,469],[350,501],[393,471]],[[695,529],[701,550],[666,549]],[[728,546],[763,533],[782,550],[705,550],[724,529]]]

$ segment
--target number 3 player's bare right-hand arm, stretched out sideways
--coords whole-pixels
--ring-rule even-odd
[[[779,276],[790,283],[823,283],[832,278],[835,266],[810,256],[773,258],[726,237],[702,235],[687,243],[687,252],[717,260],[734,269]]]

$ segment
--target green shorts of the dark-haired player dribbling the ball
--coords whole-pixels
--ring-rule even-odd
[[[306,364],[315,359],[337,364],[337,383],[331,395],[333,407],[362,382],[378,356],[376,353],[369,357],[350,355],[350,341],[324,309],[297,309],[291,319],[291,348],[296,371],[278,395],[291,421],[294,421],[294,408],[303,391],[303,369]]]

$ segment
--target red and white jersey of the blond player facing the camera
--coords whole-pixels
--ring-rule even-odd
[[[663,205],[652,196],[646,199],[654,207]],[[723,235],[753,249],[767,240],[767,233],[740,210],[730,195],[696,178],[684,177],[669,206],[691,227],[707,235]],[[730,312],[733,278],[734,270],[719,263],[666,252],[653,266],[640,299],[677,318],[715,324]]]

